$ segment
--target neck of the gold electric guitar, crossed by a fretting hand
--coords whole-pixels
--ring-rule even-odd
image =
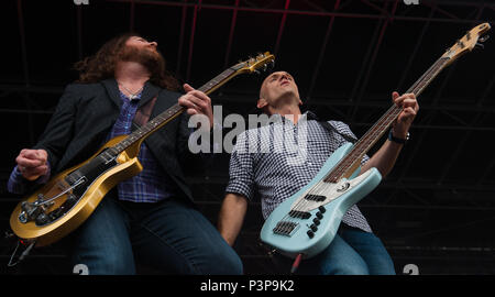
[[[232,79],[234,76],[237,76],[238,72],[232,68],[228,68],[223,73],[216,76],[213,79],[201,86],[198,90],[210,94],[221,87],[223,84]],[[142,142],[145,138],[150,136],[152,133],[161,129],[163,125],[165,125],[167,122],[174,120],[177,118],[180,113],[183,113],[186,109],[178,103],[174,105],[173,107],[168,108],[161,114],[156,116],[153,120],[148,121],[146,124],[140,127],[134,132],[129,134],[124,140],[119,142],[113,146],[113,150],[117,154],[123,152],[129,146]]]

